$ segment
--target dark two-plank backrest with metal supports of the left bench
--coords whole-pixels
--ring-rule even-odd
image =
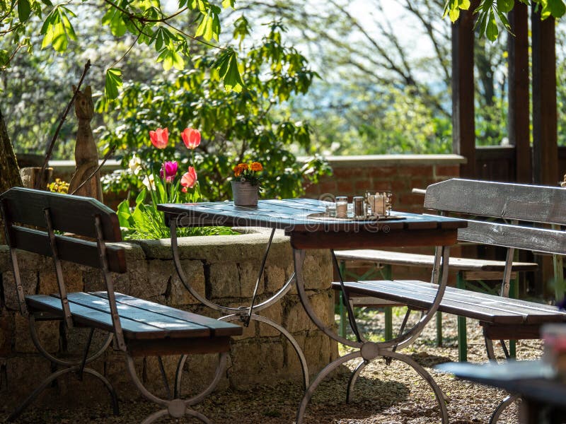
[[[52,257],[67,326],[72,326],[61,261],[92,266],[102,271],[110,308],[116,310],[110,271],[126,272],[125,250],[107,242],[120,242],[116,213],[96,199],[14,187],[0,195],[0,211],[10,247],[14,279],[22,314],[28,314],[19,275],[16,249]],[[117,317],[116,314],[112,316]],[[122,345],[120,320],[112,319]],[[122,342],[122,343],[120,343]]]

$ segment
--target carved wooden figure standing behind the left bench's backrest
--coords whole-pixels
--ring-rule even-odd
[[[73,86],[76,91],[76,87]],[[69,183],[69,193],[74,192],[83,182],[91,176],[98,167],[98,150],[94,141],[91,119],[94,115],[94,104],[91,86],[83,91],[77,91],[75,98],[75,114],[79,119],[79,128],[76,131],[75,144],[75,173]],[[78,196],[88,196],[103,201],[102,187],[100,186],[100,171],[74,193]]]

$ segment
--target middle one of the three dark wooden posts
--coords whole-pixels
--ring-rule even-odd
[[[529,127],[529,8],[519,1],[509,13],[509,143],[515,146],[515,181],[533,182]]]

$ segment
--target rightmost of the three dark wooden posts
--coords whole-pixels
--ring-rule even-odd
[[[558,135],[556,113],[555,20],[541,20],[533,3],[533,181],[556,185]]]

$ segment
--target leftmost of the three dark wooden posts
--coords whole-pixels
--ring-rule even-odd
[[[475,177],[475,110],[473,82],[473,1],[452,25],[452,151],[468,162],[460,165],[461,177]]]

